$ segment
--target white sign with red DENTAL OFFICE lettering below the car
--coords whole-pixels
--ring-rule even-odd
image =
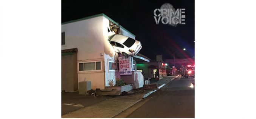
[[[119,60],[119,75],[132,75],[131,57],[118,57]]]

